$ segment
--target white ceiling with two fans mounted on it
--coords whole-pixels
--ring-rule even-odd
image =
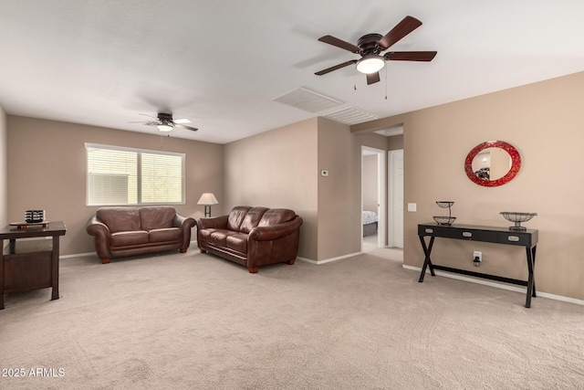
[[[390,61],[367,86],[358,58],[318,42],[423,25],[391,47],[437,50]],[[0,0],[0,105],[8,114],[133,132],[172,111],[231,142],[354,107],[378,117],[584,70],[581,0]],[[354,86],[356,85],[356,90]],[[344,104],[311,113],[272,99],[304,87]],[[387,100],[385,94],[387,89]]]

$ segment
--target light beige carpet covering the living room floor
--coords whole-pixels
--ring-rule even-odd
[[[0,388],[584,388],[583,307],[420,284],[400,255],[256,275],[196,248],[62,259],[60,300],[50,289],[5,297],[0,366],[26,375]],[[54,377],[30,376],[36,368]]]

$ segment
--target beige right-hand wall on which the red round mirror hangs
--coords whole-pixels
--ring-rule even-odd
[[[501,211],[537,212],[525,226],[539,230],[537,290],[584,299],[584,73],[503,90],[473,99],[413,111],[353,126],[378,130],[404,124],[404,202],[417,212],[405,214],[404,264],[420,267],[417,225],[443,212],[436,200],[453,200],[456,223],[508,227]],[[483,187],[464,174],[464,158],[481,142],[514,145],[522,167],[503,186]],[[474,250],[483,252],[480,269]],[[437,239],[435,262],[514,279],[526,279],[525,249]]]

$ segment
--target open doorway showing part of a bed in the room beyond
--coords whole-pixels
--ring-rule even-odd
[[[361,146],[361,251],[386,245],[385,154],[384,150]]]

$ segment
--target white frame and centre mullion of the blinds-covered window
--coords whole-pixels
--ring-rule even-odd
[[[109,151],[118,151],[126,153],[136,153],[136,175],[137,175],[137,203],[108,203],[108,204],[89,204],[89,150],[90,149],[105,149]],[[181,158],[181,198],[179,202],[142,202],[142,173],[141,173],[141,154],[157,154],[157,155],[170,155]],[[186,204],[186,153],[178,152],[167,152],[167,151],[155,151],[151,149],[141,149],[141,148],[130,148],[126,146],[116,146],[116,145],[106,145],[101,143],[90,143],[85,142],[85,203],[86,206],[153,206],[153,205],[163,205],[163,206],[174,206],[174,205],[185,205]]]

